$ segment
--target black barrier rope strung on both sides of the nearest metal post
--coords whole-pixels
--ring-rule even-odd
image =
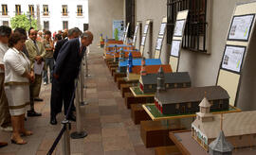
[[[75,84],[74,92],[72,94],[72,97],[71,97],[71,100],[70,100],[70,103],[69,103],[69,106],[68,106],[68,110],[67,110],[67,112],[65,114],[64,120],[68,120],[68,115],[69,115],[69,112],[71,112],[71,106],[72,106],[73,100],[75,98],[75,92],[76,92],[77,86],[78,86],[78,82],[76,82],[76,84]],[[53,153],[54,149],[56,148],[56,146],[60,142],[60,140],[61,140],[61,138],[62,138],[62,136],[64,134],[65,129],[66,129],[66,126],[64,126],[63,129],[60,131],[60,133],[57,136],[57,138],[55,139],[53,145],[50,147],[47,155],[51,155]]]

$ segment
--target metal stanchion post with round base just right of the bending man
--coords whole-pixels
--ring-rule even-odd
[[[71,138],[79,139],[87,136],[85,131],[82,131],[82,121],[81,121],[81,109],[80,109],[80,93],[81,93],[81,82],[77,80],[78,87],[76,89],[76,97],[75,97],[75,104],[76,104],[76,113],[77,113],[77,131],[71,133]]]

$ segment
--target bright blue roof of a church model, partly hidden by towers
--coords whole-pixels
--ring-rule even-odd
[[[141,65],[142,59],[133,60],[133,65]],[[146,65],[160,65],[161,60],[160,59],[146,59]],[[127,66],[128,60],[119,61],[119,66]]]

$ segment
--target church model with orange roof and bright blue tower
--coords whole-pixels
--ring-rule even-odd
[[[172,68],[170,64],[146,65],[146,59],[142,58],[141,65],[134,66],[133,61],[129,59],[126,78],[128,80],[133,80],[133,79],[138,80],[141,76],[141,70],[142,72],[146,72],[148,74],[156,74],[160,67],[164,70],[165,73],[172,72]]]

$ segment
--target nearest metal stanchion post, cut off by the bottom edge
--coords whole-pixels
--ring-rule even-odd
[[[68,120],[64,120],[62,124],[65,128],[64,136],[63,136],[63,154],[70,155],[70,136],[69,136],[70,122]]]

